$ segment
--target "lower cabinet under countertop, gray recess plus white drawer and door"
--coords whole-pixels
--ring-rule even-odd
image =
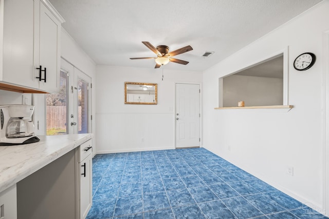
[[[27,176],[16,189],[18,219],[85,218],[92,206],[92,140]]]

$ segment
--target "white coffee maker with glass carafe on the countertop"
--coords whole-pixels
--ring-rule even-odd
[[[0,146],[24,145],[39,142],[34,134],[31,116],[34,106],[0,105]]]

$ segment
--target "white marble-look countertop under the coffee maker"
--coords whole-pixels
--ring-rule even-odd
[[[88,141],[93,134],[38,137],[38,143],[0,146],[0,192]]]

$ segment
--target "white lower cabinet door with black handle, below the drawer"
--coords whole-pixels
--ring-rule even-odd
[[[80,164],[80,217],[86,218],[92,207],[92,154],[90,153]]]

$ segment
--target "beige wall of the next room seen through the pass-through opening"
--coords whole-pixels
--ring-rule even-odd
[[[239,101],[244,101],[246,107],[282,105],[283,79],[230,75],[223,78],[222,92],[224,107],[237,107]]]

